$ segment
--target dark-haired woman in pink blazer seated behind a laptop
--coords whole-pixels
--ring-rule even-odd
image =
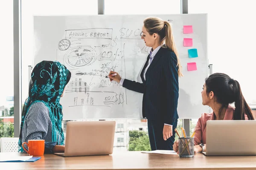
[[[211,74],[204,83],[202,104],[212,108],[212,113],[203,113],[195,127],[195,153],[206,151],[207,120],[254,120],[252,111],[244,99],[239,82],[227,74]],[[235,102],[235,108],[229,104]],[[178,150],[178,142],[173,145]]]

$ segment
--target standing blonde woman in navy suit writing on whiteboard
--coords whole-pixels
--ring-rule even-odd
[[[146,18],[141,39],[151,47],[140,74],[143,83],[121,78],[114,71],[109,77],[129,90],[143,93],[143,117],[148,119],[151,150],[173,150],[178,119],[178,77],[182,73],[172,27],[160,18]]]

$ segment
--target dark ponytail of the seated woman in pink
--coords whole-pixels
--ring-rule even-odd
[[[247,114],[249,120],[254,120],[252,110],[244,99],[239,82],[233,79],[231,79],[231,81],[236,107],[233,120],[244,120],[244,113]]]

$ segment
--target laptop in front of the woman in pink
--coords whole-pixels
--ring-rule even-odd
[[[206,156],[256,155],[255,120],[208,120]]]

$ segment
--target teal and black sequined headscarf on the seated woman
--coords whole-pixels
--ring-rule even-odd
[[[62,139],[58,144],[64,145],[60,97],[70,77],[70,71],[58,61],[42,61],[33,69],[29,84],[29,97],[24,103],[21,117],[20,139],[18,143],[21,152],[23,152],[21,139],[24,120],[29,107],[35,102],[43,102],[49,109],[49,116],[52,122],[52,142],[58,142],[56,136],[58,131]]]

